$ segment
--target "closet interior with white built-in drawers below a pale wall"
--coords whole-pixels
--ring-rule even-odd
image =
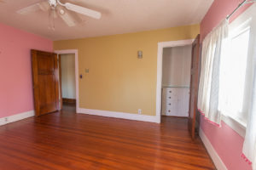
[[[191,46],[164,48],[162,107],[165,116],[189,116]]]

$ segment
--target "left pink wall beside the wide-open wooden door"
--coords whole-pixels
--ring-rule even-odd
[[[0,118],[33,110],[32,48],[53,51],[53,42],[0,24]]]

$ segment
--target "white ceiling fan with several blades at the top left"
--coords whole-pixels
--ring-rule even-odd
[[[102,14],[96,10],[84,8],[73,3],[61,3],[60,0],[44,0],[39,3],[34,3],[26,8],[21,8],[17,13],[29,14],[38,10],[49,12],[49,28],[51,30],[55,30],[55,18],[58,16],[64,20],[67,26],[76,26],[81,22],[80,18],[70,13],[70,11],[78,14],[84,14],[94,19],[101,19],[102,17]]]

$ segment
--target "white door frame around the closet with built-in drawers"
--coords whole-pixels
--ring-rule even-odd
[[[172,48],[178,46],[191,45],[194,39],[158,42],[157,51],[157,76],[156,76],[156,117],[157,122],[161,122],[161,88],[162,88],[162,67],[163,67],[163,48]]]

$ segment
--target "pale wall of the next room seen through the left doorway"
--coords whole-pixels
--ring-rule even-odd
[[[61,54],[62,98],[76,99],[75,55]]]

